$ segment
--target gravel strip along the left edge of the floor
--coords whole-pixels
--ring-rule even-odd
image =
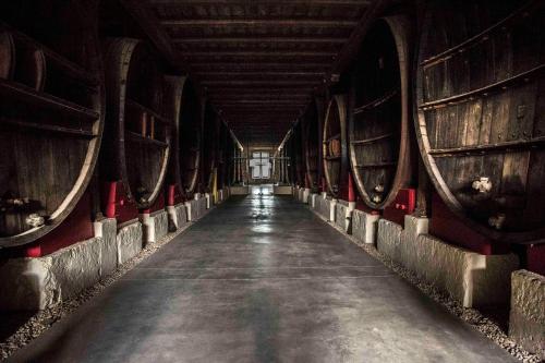
[[[28,344],[33,339],[39,337],[44,331],[49,329],[55,323],[70,315],[82,304],[90,300],[93,297],[101,293],[107,287],[116,282],[120,277],[134,268],[143,259],[154,254],[165,244],[172,241],[177,235],[186,230],[192,223],[189,223],[180,230],[168,233],[159,241],[145,246],[136,256],[119,266],[110,276],[97,282],[95,286],[83,290],[78,295],[61,302],[59,305],[37,312],[26,323],[24,323],[13,335],[0,342],[0,361],[8,359],[16,350]]]

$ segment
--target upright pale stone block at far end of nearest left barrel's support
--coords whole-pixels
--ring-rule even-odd
[[[104,239],[100,275],[108,276],[118,268],[118,222],[116,218],[104,218],[93,225],[95,237]]]

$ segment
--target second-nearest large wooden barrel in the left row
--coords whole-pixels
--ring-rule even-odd
[[[149,208],[161,192],[172,121],[165,116],[165,80],[144,41],[114,38],[105,52],[107,119],[102,178],[121,181],[129,202]]]

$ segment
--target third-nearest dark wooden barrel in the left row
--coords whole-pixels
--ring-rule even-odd
[[[173,120],[169,183],[179,185],[191,198],[197,185],[201,158],[201,102],[186,77],[166,77],[165,107]]]

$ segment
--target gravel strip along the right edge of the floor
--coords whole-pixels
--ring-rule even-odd
[[[471,325],[473,328],[477,329],[486,338],[494,341],[496,344],[505,349],[512,356],[517,358],[524,363],[543,363],[545,361],[541,360],[536,354],[530,353],[524,350],[521,346],[517,344],[512,339],[510,339],[498,324],[491,320],[488,317],[484,316],[481,312],[475,308],[463,307],[458,301],[450,298],[450,295],[444,291],[437,290],[434,286],[422,281],[414,273],[404,268],[402,265],[391,261],[387,256],[379,253],[374,245],[363,243],[356,240],[353,235],[347,234],[341,228],[330,223],[322,217],[319,214],[311,209],[320,220],[323,220],[328,226],[335,228],[339,233],[347,237],[351,242],[360,246],[371,256],[375,257],[382,262],[386,267],[390,268],[392,271],[401,276],[404,280],[411,285],[419,288],[426,295],[432,298],[434,301],[438,302],[445,306],[451,314],[460,317],[462,320]]]

